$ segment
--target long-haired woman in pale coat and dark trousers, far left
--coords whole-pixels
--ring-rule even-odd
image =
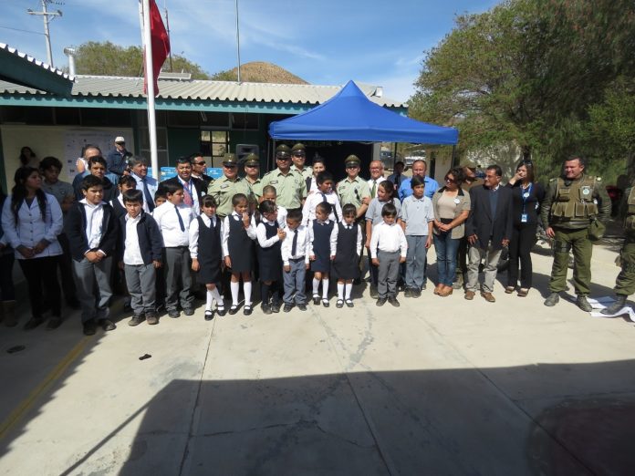
[[[42,178],[37,169],[18,169],[16,186],[2,209],[6,240],[16,251],[28,285],[32,317],[25,325],[26,330],[44,322],[43,288],[52,312],[47,328],[55,329],[62,322],[57,284],[57,257],[62,254],[57,235],[62,232],[62,209],[57,199],[41,187]]]

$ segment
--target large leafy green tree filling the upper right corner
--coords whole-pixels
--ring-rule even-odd
[[[427,52],[411,116],[458,127],[461,150],[515,141],[555,163],[585,143],[589,107],[635,72],[633,48],[631,0],[508,0],[458,16]]]

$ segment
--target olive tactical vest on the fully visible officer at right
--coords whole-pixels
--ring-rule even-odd
[[[551,216],[566,221],[589,220],[598,215],[598,203],[593,198],[593,189],[601,178],[585,175],[581,181],[572,181],[567,187],[558,177],[556,199],[551,204]]]

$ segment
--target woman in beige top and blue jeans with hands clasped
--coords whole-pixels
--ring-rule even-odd
[[[444,186],[432,195],[434,227],[432,239],[437,254],[439,282],[434,294],[446,297],[453,293],[456,252],[465,234],[465,220],[470,213],[470,194],[463,191],[463,169],[454,167],[445,174]]]

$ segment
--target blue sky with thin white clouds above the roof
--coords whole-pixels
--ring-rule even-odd
[[[481,13],[494,0],[239,0],[241,62],[268,61],[313,84],[349,79],[384,87],[388,98],[407,100],[424,52],[454,25],[454,16]],[[172,53],[209,73],[236,65],[234,0],[157,0],[167,7]],[[39,0],[0,2],[0,42],[47,60]],[[137,0],[57,0],[49,10],[55,66],[67,65],[64,47],[109,40],[140,45]],[[9,29],[13,28],[13,29]],[[28,30],[16,31],[16,30]]]

